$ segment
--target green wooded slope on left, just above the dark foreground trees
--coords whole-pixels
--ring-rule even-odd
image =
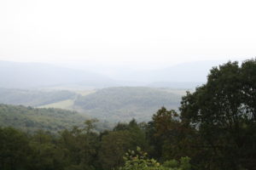
[[[38,129],[57,133],[65,128],[82,126],[89,116],[61,109],[35,109],[22,105],[0,105],[0,127],[15,127],[31,133]],[[108,122],[99,122],[97,130],[109,128]]]

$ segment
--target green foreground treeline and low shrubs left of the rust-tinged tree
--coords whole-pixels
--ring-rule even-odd
[[[29,134],[13,127],[0,128],[0,169],[3,170],[84,170],[131,168],[189,170],[189,157],[165,161],[163,166],[137,148],[154,153],[148,143],[148,125],[132,120],[119,123],[111,131],[96,133],[96,120],[84,122],[59,134],[38,130]],[[128,150],[130,155],[125,153]],[[152,157],[154,155],[149,155]],[[140,169],[140,168],[139,168]]]

